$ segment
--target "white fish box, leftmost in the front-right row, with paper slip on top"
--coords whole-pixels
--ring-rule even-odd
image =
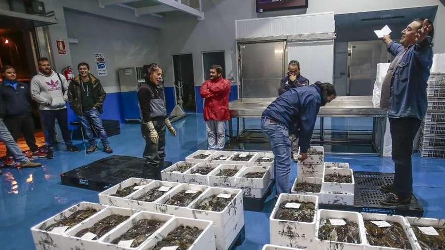
[[[270,217],[271,243],[310,249],[315,241],[318,202],[315,195],[280,194]]]

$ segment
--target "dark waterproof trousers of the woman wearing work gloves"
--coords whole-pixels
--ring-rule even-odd
[[[164,119],[153,121],[158,132],[159,142],[157,144],[150,140],[150,131],[145,124],[141,124],[142,137],[145,139],[143,157],[145,158],[144,178],[161,178],[162,162],[165,158],[165,123]]]

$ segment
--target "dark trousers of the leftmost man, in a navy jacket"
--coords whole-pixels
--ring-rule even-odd
[[[17,139],[19,139],[23,134],[29,149],[32,152],[38,151],[34,137],[34,119],[32,119],[31,115],[23,118],[7,117],[3,121],[5,122],[6,127],[8,128],[9,132],[11,132],[11,135],[15,141],[17,141]],[[11,156],[11,152],[8,150],[6,155]]]

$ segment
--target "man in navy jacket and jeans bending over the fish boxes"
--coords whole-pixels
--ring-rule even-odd
[[[287,90],[262,113],[261,129],[268,137],[275,155],[276,196],[290,191],[289,173],[292,160],[289,130],[298,131],[301,153],[298,160],[306,160],[320,107],[331,102],[335,96],[334,85],[316,82],[310,86]]]

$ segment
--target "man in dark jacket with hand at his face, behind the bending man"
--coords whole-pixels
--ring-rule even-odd
[[[300,63],[296,60],[289,62],[287,75],[281,79],[278,94],[282,95],[288,89],[309,86],[309,80],[300,74]],[[289,131],[289,139],[292,143],[292,157],[298,154],[298,131]],[[295,159],[295,158],[294,158]]]

